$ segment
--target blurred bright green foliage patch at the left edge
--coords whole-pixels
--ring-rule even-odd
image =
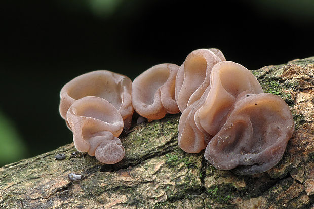
[[[0,111],[0,166],[25,158],[26,151],[13,123]]]

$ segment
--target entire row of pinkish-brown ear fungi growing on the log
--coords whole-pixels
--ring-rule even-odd
[[[148,121],[181,112],[181,149],[205,149],[215,168],[241,175],[276,165],[294,131],[288,105],[263,93],[248,69],[226,61],[218,49],[194,50],[181,66],[155,65],[133,82],[105,70],[86,73],[68,82],[60,97],[76,149],[107,164],[124,157],[117,137],[131,126],[134,110]]]

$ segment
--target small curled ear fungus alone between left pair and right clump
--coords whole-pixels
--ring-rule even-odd
[[[150,120],[161,119],[166,113],[179,112],[175,101],[175,79],[179,66],[155,65],[132,83],[132,104],[135,111]]]

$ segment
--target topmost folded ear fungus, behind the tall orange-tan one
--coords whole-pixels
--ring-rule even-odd
[[[209,86],[212,67],[224,60],[218,49],[198,49],[186,57],[176,77],[175,98],[181,112],[201,98]]]

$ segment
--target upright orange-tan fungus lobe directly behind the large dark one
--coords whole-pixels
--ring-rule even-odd
[[[213,67],[210,88],[195,114],[195,120],[212,136],[219,131],[221,121],[239,95],[263,93],[254,75],[244,66],[231,61],[219,62]]]

